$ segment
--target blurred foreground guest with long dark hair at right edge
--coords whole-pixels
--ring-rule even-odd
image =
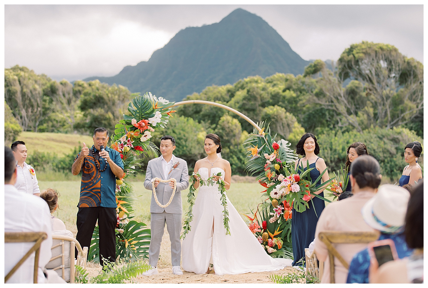
[[[423,283],[424,280],[424,182],[410,195],[405,217],[404,235],[410,257],[389,261],[378,266],[372,261],[369,269],[370,283]]]

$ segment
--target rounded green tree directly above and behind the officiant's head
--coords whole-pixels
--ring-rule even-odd
[[[122,119],[123,114],[128,113],[130,100],[137,96],[131,95],[128,88],[122,85],[109,86],[98,80],[78,82],[74,90],[76,94],[81,91],[78,107],[83,112],[83,117],[75,123],[74,128],[89,134],[97,127],[104,127],[112,135],[114,126]]]

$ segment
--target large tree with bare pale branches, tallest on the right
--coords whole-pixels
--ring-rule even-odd
[[[392,45],[352,44],[340,56],[337,68],[335,73],[321,70],[317,79],[321,93],[312,93],[313,100],[336,111],[359,132],[372,125],[401,126],[423,109],[423,65]],[[355,99],[355,89],[343,88],[344,80],[351,78],[361,83]]]

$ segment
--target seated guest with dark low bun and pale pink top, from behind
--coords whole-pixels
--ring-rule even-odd
[[[380,166],[375,158],[363,155],[355,159],[351,165],[352,197],[341,201],[330,203],[317,223],[315,231],[315,251],[317,259],[324,261],[324,267],[329,267],[328,250],[326,244],[318,238],[318,234],[324,231],[361,231],[374,232],[361,214],[363,206],[375,196],[380,184]],[[294,217],[294,215],[293,215]],[[292,230],[291,230],[292,231]],[[345,259],[347,263],[351,262],[352,257],[359,251],[365,249],[367,244],[334,244],[337,252]],[[335,261],[335,283],[346,283],[348,269],[340,261]],[[330,269],[324,269],[321,283],[330,283]]]

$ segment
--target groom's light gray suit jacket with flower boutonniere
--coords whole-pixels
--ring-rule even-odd
[[[159,177],[160,179],[166,180],[163,176],[162,169],[162,157],[152,159],[147,164],[146,179],[144,180],[144,187],[152,191],[152,179]],[[175,196],[172,198],[171,204],[168,207],[162,208],[158,206],[155,202],[155,197],[152,192],[152,201],[150,203],[150,213],[162,213],[165,211],[170,214],[182,214],[183,204],[181,203],[181,190],[187,189],[189,187],[189,172],[187,170],[187,163],[181,158],[172,156],[172,165],[175,162],[180,162],[177,168],[173,169],[169,173],[168,178],[174,178],[177,180],[177,190],[175,191]],[[169,186],[168,182],[160,182],[158,188],[156,188],[156,196],[160,204],[165,205],[168,203],[169,198],[172,195],[172,187]]]

